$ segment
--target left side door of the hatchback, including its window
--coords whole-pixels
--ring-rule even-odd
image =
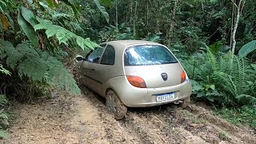
[[[98,65],[102,57],[102,52],[106,45],[98,47],[86,56],[86,61],[82,62],[82,73],[84,74],[84,83],[90,90],[101,94],[102,82],[98,79]]]

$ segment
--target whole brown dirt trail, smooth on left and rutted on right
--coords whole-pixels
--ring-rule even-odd
[[[114,120],[98,94],[42,98],[32,105],[15,103],[10,138],[0,143],[256,143],[256,134],[191,104],[129,109]]]

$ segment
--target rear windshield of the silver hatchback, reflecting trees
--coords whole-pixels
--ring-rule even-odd
[[[131,46],[124,54],[125,66],[160,65],[178,62],[164,46]]]

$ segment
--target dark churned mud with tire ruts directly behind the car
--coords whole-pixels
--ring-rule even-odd
[[[110,143],[255,143],[255,134],[238,128],[191,104],[128,109],[125,119],[116,121],[107,113],[105,99],[90,92],[88,101],[97,107]],[[162,110],[158,110],[162,108]],[[225,132],[224,137],[220,134]]]

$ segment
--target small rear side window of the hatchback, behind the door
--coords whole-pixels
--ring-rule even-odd
[[[114,57],[115,57],[114,46],[111,46],[111,45],[106,46],[106,50],[104,51],[104,54],[102,55],[101,64],[114,65]]]

